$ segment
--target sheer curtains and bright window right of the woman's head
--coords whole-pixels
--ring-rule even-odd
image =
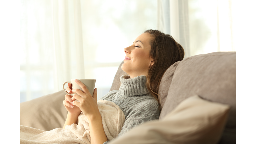
[[[193,55],[236,51],[232,0],[158,0],[159,30]]]

